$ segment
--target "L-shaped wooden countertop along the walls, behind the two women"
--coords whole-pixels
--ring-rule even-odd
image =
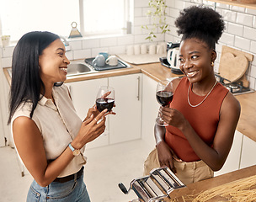
[[[9,84],[11,78],[8,75],[8,68],[3,68],[3,72],[8,79]],[[90,74],[84,74],[74,77],[67,77],[66,82],[77,82],[89,79],[103,78],[103,77],[115,77],[127,74],[140,73],[146,74],[155,81],[163,80],[169,77],[179,77],[180,75],[173,74],[168,67],[162,66],[160,62],[144,65],[132,65],[130,68],[109,70],[104,72],[95,72]],[[241,104],[241,115],[238,121],[237,130],[243,135],[248,136],[253,141],[256,141],[256,93],[247,93],[243,95],[237,95],[236,98]]]

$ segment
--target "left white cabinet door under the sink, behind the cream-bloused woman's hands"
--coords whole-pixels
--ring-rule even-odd
[[[84,120],[88,113],[88,109],[93,107],[93,104],[95,104],[99,87],[107,85],[108,78],[67,83],[67,86],[70,88],[72,102],[81,120]],[[89,142],[86,148],[107,145],[109,145],[109,118],[107,118],[106,130],[104,133],[94,141]]]

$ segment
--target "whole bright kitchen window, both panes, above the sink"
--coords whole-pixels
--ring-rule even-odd
[[[68,36],[72,22],[83,36],[122,33],[131,18],[130,1],[0,0],[0,35],[19,40],[29,31],[47,30]]]

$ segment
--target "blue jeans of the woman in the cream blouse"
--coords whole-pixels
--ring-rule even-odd
[[[33,181],[27,196],[27,202],[90,202],[83,175],[77,180],[67,183],[52,182],[46,187],[41,187]]]

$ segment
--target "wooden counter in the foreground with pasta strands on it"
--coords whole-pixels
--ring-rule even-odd
[[[242,178],[248,178],[251,176],[256,175],[256,165],[252,167],[246,167],[231,173],[226,173],[214,178],[205,179],[203,181],[197,182],[197,183],[189,183],[186,187],[181,189],[176,189],[173,191],[173,193],[170,194],[171,198],[177,198],[178,201],[184,201],[182,199],[182,196],[191,196],[191,199],[186,199],[186,202],[192,201],[195,199],[197,194],[200,194],[201,192],[205,190],[209,190],[211,188],[215,188],[217,186],[220,186],[222,184],[231,183],[236,180],[242,179]],[[255,189],[255,188],[254,188]],[[225,199],[223,197],[215,197],[214,199],[210,199],[207,201],[229,201],[228,199]]]

